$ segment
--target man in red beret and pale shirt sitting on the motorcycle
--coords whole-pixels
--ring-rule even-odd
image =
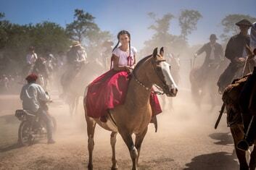
[[[38,77],[35,74],[26,77],[28,84],[22,87],[20,100],[22,100],[22,108],[24,110],[33,111],[34,113],[39,114],[41,119],[44,119],[46,122],[48,143],[51,144],[55,143],[52,139],[51,117],[46,109],[41,106],[41,102],[51,101],[51,99],[44,89],[36,84],[37,79]]]

